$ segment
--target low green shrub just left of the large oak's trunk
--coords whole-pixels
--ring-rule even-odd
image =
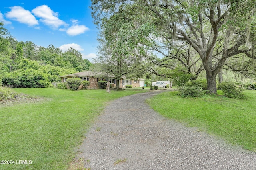
[[[180,96],[182,97],[202,97],[205,91],[200,86],[185,86],[180,88]]]

